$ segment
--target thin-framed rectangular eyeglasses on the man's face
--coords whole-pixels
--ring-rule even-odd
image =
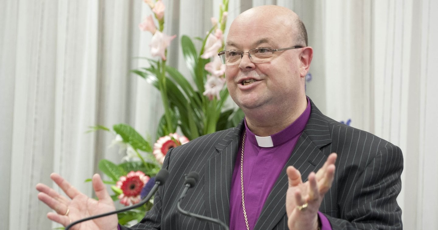
[[[272,49],[272,48],[256,48],[252,50],[248,50],[248,52],[242,52],[239,50],[223,50],[218,53],[222,64],[227,65],[235,65],[239,64],[240,60],[244,57],[244,53],[248,53],[249,59],[254,63],[262,63],[268,62],[272,60],[275,56],[275,52],[283,51],[283,50],[292,50],[303,48],[303,46],[293,46],[289,48],[281,48],[281,49]]]

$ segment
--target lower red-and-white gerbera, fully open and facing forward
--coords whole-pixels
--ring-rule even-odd
[[[120,177],[117,181],[117,188],[120,188],[123,193],[118,196],[120,203],[125,206],[133,205],[140,202],[141,189],[150,178],[141,171],[131,171],[126,177]]]

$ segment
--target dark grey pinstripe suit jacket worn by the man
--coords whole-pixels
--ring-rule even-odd
[[[230,184],[244,124],[199,137],[167,153],[163,167],[169,178],[154,199],[154,207],[130,229],[219,230],[177,212],[184,174],[196,171],[198,184],[189,190],[183,209],[230,223]],[[331,152],[338,154],[335,180],[320,211],[333,229],[402,229],[396,197],[401,189],[401,150],[365,131],[323,115],[311,102],[311,115],[286,166],[283,167],[260,217],[257,230],[286,230],[286,167],[293,165],[307,178]],[[128,229],[128,228],[126,228]]]

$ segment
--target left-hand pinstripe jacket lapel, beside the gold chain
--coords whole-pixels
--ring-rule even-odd
[[[204,191],[206,215],[220,219],[230,225],[230,187],[233,167],[236,161],[237,146],[244,129],[243,120],[219,141],[216,151],[205,165]],[[209,223],[211,230],[220,229],[219,225]]]

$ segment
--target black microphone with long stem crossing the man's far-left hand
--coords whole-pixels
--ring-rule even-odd
[[[152,195],[155,194],[155,191],[157,191],[158,187],[160,185],[164,184],[164,182],[166,181],[168,176],[169,176],[169,172],[166,169],[159,170],[159,172],[155,176],[154,187],[152,187],[151,191],[148,193],[148,195],[143,200],[141,200],[141,202],[138,202],[135,205],[131,205],[131,206],[123,208],[123,209],[115,210],[115,211],[112,211],[112,212],[106,212],[106,213],[102,213],[102,214],[95,215],[95,216],[89,216],[89,217],[84,218],[84,219],[79,219],[79,220],[74,221],[74,222],[70,223],[69,225],[67,225],[65,227],[65,230],[69,230],[71,228],[71,226],[73,226],[73,225],[75,225],[77,223],[81,223],[81,222],[84,222],[84,221],[87,221],[87,220],[90,220],[90,219],[100,218],[100,217],[103,217],[103,216],[113,215],[113,214],[116,214],[116,213],[119,213],[119,212],[125,212],[125,211],[131,210],[131,209],[138,208],[141,205],[144,205],[146,202],[149,201],[149,199],[151,199]]]

